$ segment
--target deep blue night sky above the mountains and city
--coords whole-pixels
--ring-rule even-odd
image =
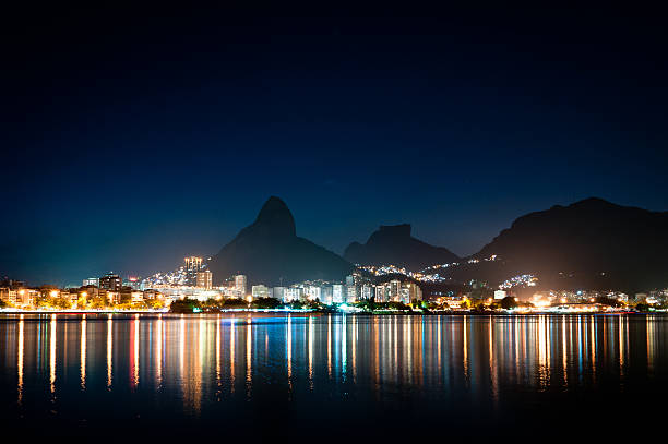
[[[270,195],[339,254],[380,224],[468,255],[588,196],[668,209],[658,11],[53,8],[2,14],[2,276],[174,269]]]

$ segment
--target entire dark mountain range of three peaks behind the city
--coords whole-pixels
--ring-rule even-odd
[[[285,203],[270,197],[255,221],[215,255],[214,279],[243,273],[251,283],[275,286],[341,280],[353,266],[404,266],[419,271],[434,264],[453,281],[487,280],[497,286],[535,274],[541,288],[646,290],[668,286],[668,212],[616,205],[591,197],[518,217],[478,253],[460,259],[411,235],[410,225],[381,226],[365,244],[353,242],[344,257],[296,233]],[[497,255],[496,261],[484,261]],[[468,263],[478,259],[479,263]]]

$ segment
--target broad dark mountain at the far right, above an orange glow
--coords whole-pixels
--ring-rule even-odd
[[[517,218],[476,259],[501,260],[453,271],[492,281],[513,273],[539,275],[553,288],[658,288],[668,285],[668,212],[616,205],[597,197]]]

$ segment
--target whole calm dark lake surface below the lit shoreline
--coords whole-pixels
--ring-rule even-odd
[[[667,321],[2,315],[0,425],[88,439],[639,436],[667,412]]]

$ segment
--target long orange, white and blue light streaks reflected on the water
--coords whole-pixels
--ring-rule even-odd
[[[3,315],[2,413],[10,422],[45,411],[63,421],[198,420],[246,403],[308,417],[313,403],[353,399],[353,415],[424,403],[427,416],[474,406],[497,418],[520,403],[553,400],[541,393],[665,386],[667,320]]]

